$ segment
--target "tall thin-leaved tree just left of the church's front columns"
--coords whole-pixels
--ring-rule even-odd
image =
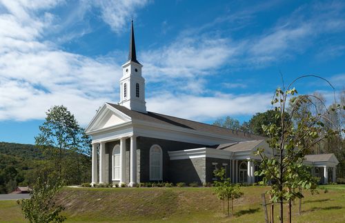
[[[50,160],[47,164],[57,170],[52,175],[66,180],[67,184],[81,184],[85,180],[83,169],[90,169],[90,157],[85,159],[80,154],[90,154],[90,138],[65,106],[52,106],[46,114],[35,143]]]

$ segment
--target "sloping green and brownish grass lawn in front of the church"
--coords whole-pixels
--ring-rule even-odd
[[[320,188],[328,193],[305,193],[302,215],[296,202],[293,222],[345,222],[345,185]],[[67,222],[264,222],[260,204],[266,190],[242,187],[244,197],[235,201],[234,217],[223,214],[213,188],[63,188],[57,202],[66,206]],[[25,222],[15,201],[0,201],[0,222]]]

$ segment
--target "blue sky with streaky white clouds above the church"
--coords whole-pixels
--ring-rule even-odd
[[[33,144],[53,105],[86,126],[118,102],[130,19],[148,110],[248,121],[270,108],[279,72],[320,75],[339,94],[344,14],[344,1],[0,0],[0,141]],[[295,87],[333,99],[317,79]]]

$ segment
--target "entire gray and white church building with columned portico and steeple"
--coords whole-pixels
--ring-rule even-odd
[[[201,184],[213,182],[213,171],[222,167],[234,183],[259,181],[253,163],[259,157],[253,152],[266,148],[269,155],[265,137],[146,110],[142,67],[136,57],[132,24],[120,101],[103,104],[86,128],[92,137],[92,184]],[[337,163],[333,154],[306,159],[324,184],[335,181]]]

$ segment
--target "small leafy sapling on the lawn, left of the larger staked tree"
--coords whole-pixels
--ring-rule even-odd
[[[242,197],[243,193],[238,184],[231,184],[230,178],[226,178],[225,169],[221,168],[215,171],[217,181],[215,181],[215,193],[220,200],[223,200],[223,213],[224,203],[227,200],[228,215],[230,215],[230,200],[231,200],[231,215],[234,215],[233,200]]]

